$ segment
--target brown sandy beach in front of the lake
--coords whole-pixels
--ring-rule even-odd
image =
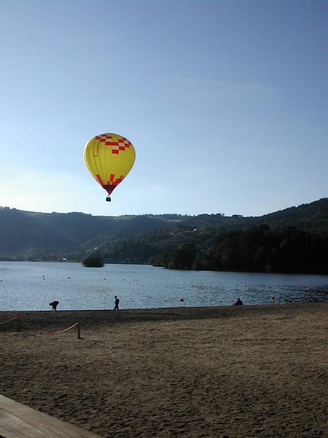
[[[0,312],[0,393],[104,437],[328,437],[327,335],[328,303]]]

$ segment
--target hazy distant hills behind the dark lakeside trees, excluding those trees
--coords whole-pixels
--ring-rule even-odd
[[[97,248],[110,256],[111,261],[145,262],[149,256],[188,240],[191,234],[200,248],[206,248],[222,233],[247,230],[259,224],[276,229],[294,226],[313,235],[327,236],[328,199],[261,217],[229,217],[220,213],[113,217],[36,213],[4,207],[0,208],[0,258],[79,261]],[[144,251],[144,256],[133,257],[131,248],[127,250],[128,244],[131,248],[138,247],[138,253]]]

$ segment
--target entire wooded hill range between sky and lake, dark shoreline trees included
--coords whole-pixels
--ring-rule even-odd
[[[0,209],[3,260],[151,263],[171,269],[327,273],[328,199],[261,217],[91,216]]]

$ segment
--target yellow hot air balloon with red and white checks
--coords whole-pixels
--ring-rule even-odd
[[[107,191],[106,201],[110,201],[114,188],[132,169],[135,150],[125,137],[101,134],[88,141],[83,158],[90,174]]]

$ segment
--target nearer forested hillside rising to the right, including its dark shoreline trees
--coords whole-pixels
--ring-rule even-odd
[[[328,202],[256,218],[201,215],[102,252],[170,269],[328,274]]]

